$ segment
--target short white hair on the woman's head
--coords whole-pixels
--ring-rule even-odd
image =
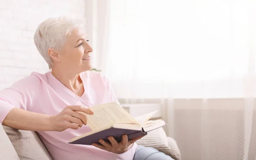
[[[61,50],[70,33],[79,27],[85,27],[84,19],[75,17],[56,17],[44,20],[35,31],[34,42],[41,56],[52,68],[53,60],[48,55],[48,49]]]

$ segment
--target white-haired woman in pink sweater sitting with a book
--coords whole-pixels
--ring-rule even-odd
[[[172,160],[153,148],[137,146],[123,135],[118,143],[74,145],[69,140],[90,131],[90,107],[118,102],[108,79],[91,72],[91,53],[84,20],[59,17],[42,22],[35,45],[51,71],[17,81],[0,91],[0,121],[15,129],[37,131],[54,160]],[[84,112],[85,115],[80,113]]]

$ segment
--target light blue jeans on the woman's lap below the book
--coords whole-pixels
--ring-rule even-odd
[[[138,146],[134,160],[173,160],[170,156],[151,147]]]

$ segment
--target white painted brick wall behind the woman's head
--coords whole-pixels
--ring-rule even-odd
[[[49,71],[33,36],[49,17],[85,17],[85,0],[0,0],[0,90],[33,71]]]

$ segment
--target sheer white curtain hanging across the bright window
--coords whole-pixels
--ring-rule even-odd
[[[162,104],[183,160],[256,160],[255,0],[87,0],[96,68]]]

